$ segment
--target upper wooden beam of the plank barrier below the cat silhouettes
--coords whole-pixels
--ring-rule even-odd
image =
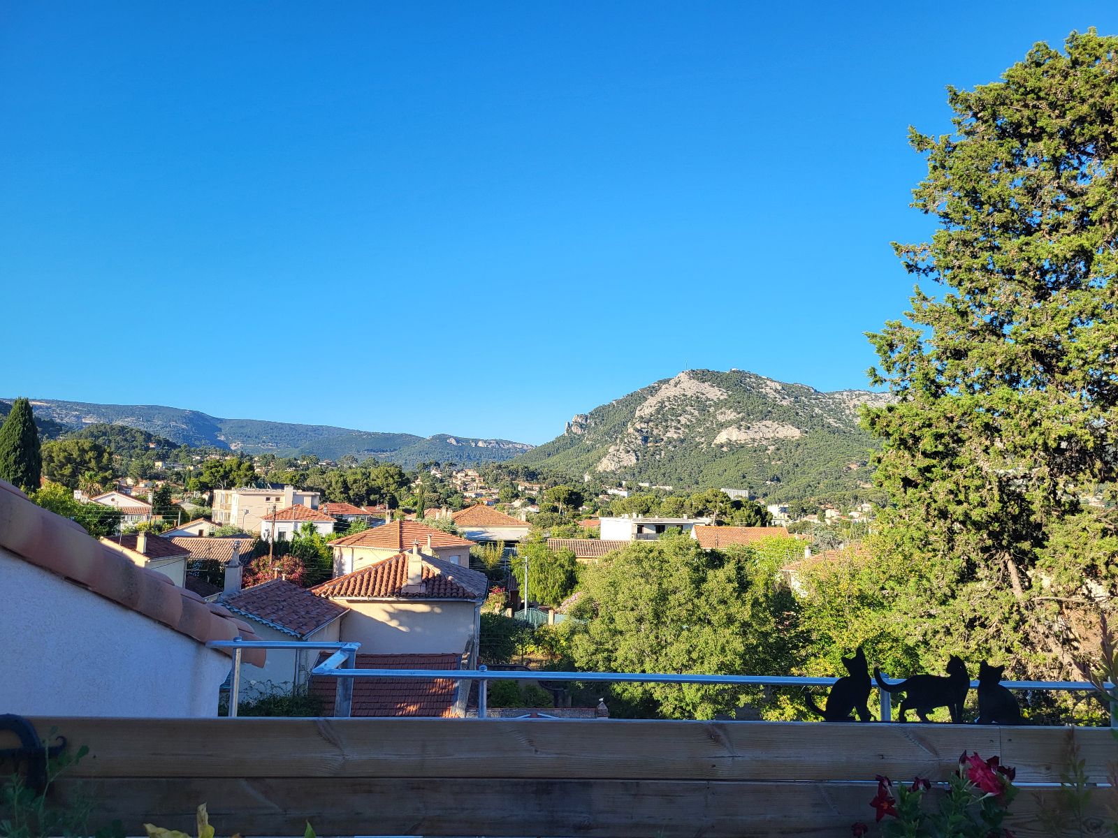
[[[34,720],[91,755],[73,777],[941,780],[997,727],[426,718]],[[1106,733],[1106,732],[1101,732]],[[1109,736],[1109,733],[1106,733]],[[1054,779],[1018,765],[1030,781]]]

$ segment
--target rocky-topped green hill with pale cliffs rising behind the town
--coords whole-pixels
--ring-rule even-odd
[[[881,393],[824,393],[731,370],[689,370],[574,417],[517,463],[676,488],[752,488],[770,501],[869,488],[859,426]]]

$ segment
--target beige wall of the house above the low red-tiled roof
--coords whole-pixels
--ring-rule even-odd
[[[481,604],[464,600],[348,600],[341,639],[377,655],[458,653],[474,638]]]

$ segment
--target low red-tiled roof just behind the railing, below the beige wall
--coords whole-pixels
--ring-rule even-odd
[[[321,660],[321,658],[320,658]],[[358,655],[358,669],[461,669],[462,656],[447,655]],[[353,678],[353,716],[454,715],[458,682],[451,678],[405,680],[402,678]],[[311,693],[322,702],[322,713],[334,714],[338,678],[315,675]]]

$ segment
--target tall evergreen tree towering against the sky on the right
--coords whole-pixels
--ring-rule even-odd
[[[923,583],[925,640],[1070,675],[1116,591],[1118,38],[1033,47],[949,88],[954,131],[911,132],[930,241],[894,245],[917,288],[870,335],[894,403],[871,410],[885,547]]]

